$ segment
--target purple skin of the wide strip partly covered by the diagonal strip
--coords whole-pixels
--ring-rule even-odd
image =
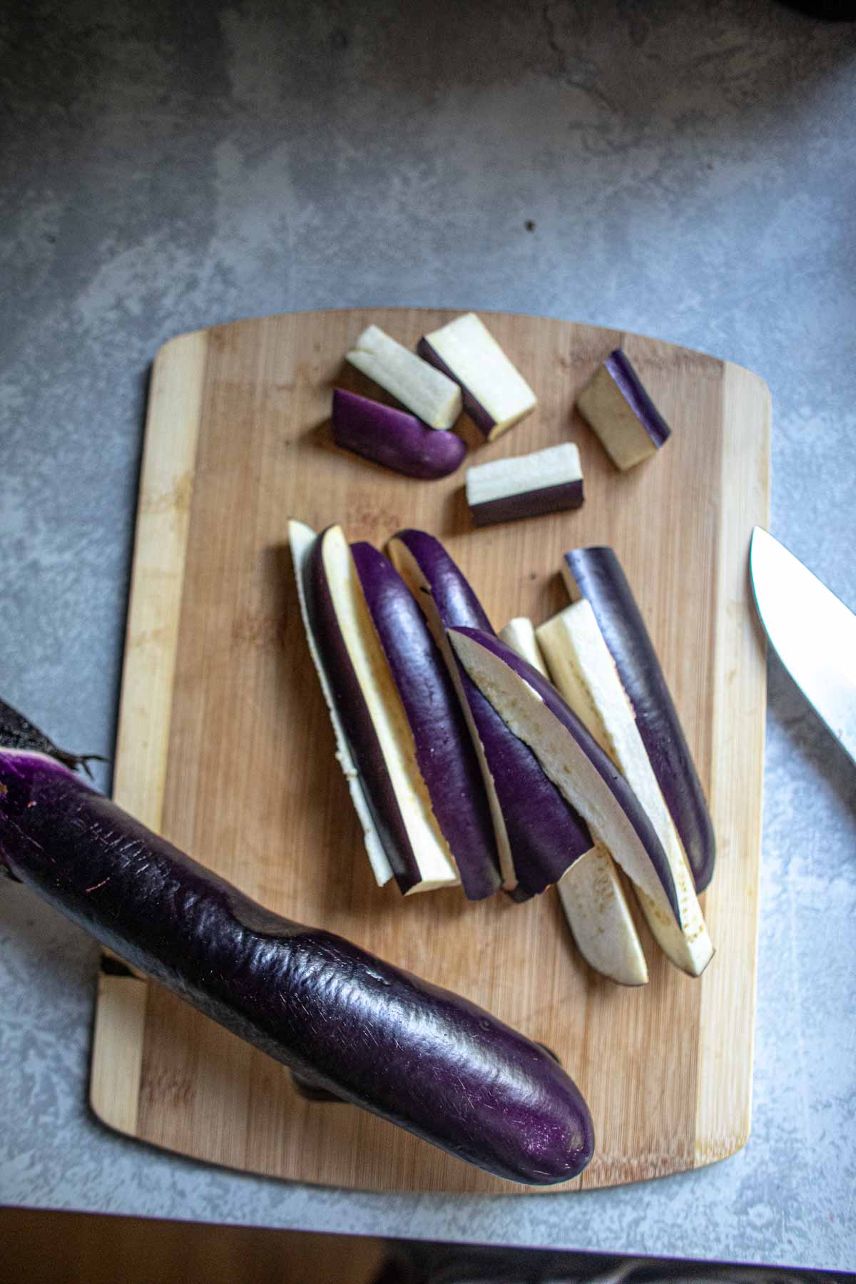
[[[430,586],[430,602],[425,594],[417,594],[426,615],[432,603],[443,629],[461,624],[493,634],[481,602],[439,539],[424,530],[399,530],[390,541],[393,561],[397,543],[412,555]],[[539,895],[551,883],[558,882],[571,864],[589,851],[593,846],[592,836],[583,818],[569,806],[544,774],[531,749],[512,736],[493,705],[457,663],[457,657],[453,656],[452,663],[456,664],[484,747],[506,824],[520,889],[515,899]]]

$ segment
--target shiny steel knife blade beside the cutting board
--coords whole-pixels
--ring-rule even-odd
[[[752,532],[749,575],[776,655],[856,763],[856,615],[761,526]]]

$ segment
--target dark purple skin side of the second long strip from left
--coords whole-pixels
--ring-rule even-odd
[[[402,892],[407,892],[420,882],[420,867],[393,782],[389,778],[375,724],[339,628],[323,566],[323,535],[322,532],[316,539],[307,565],[304,587],[309,619],[336,709],[363,783],[368,810],[395,881]]]

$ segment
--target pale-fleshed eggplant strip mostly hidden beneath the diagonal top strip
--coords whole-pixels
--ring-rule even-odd
[[[548,677],[533,621],[518,615],[499,637]],[[595,972],[619,985],[646,985],[648,966],[615,862],[599,844],[574,862],[556,885],[574,944]]]

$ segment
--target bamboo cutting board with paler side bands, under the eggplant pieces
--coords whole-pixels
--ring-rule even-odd
[[[585,1094],[597,1153],[571,1188],[697,1167],[748,1135],[765,715],[747,550],[767,514],[769,394],[755,375],[653,339],[488,315],[539,397],[471,461],[579,443],[585,506],[472,529],[463,470],[399,478],[336,451],[335,384],[375,321],[412,345],[452,312],[295,313],[160,349],[151,380],[116,765],[116,800],[270,908],[323,926],[483,1004],[544,1043]],[[672,425],[629,474],[574,401],[622,344]],[[719,840],[705,912],[717,954],[692,981],[640,928],[651,968],[622,990],[575,955],[558,898],[379,890],[298,612],[286,521],[382,544],[439,535],[499,627],[566,603],[566,548],[612,544],[662,659]],[[109,960],[108,960],[109,963]],[[101,976],[91,1103],[141,1140],[253,1172],[372,1190],[512,1193],[400,1129],[309,1103],[286,1071],[154,984]],[[557,1188],[551,1188],[557,1189]],[[558,1188],[567,1189],[567,1188]]]

